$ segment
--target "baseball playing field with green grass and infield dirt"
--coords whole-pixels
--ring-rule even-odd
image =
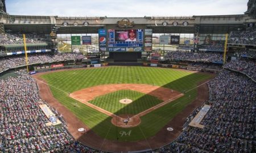
[[[197,86],[212,77],[185,70],[127,66],[53,71],[39,76],[55,99],[90,130],[102,139],[117,142],[156,135],[195,101]],[[119,103],[121,99],[132,103]],[[124,116],[138,116],[139,124],[113,124],[114,117]]]

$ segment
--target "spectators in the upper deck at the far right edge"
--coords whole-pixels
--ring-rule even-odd
[[[232,31],[228,44],[256,45],[256,28],[250,27],[245,31]]]

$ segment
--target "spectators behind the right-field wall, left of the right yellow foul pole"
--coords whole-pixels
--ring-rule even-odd
[[[222,63],[223,54],[214,53],[192,53],[192,52],[168,52],[165,56],[166,59],[179,60],[179,61],[196,61],[196,62],[213,62]]]

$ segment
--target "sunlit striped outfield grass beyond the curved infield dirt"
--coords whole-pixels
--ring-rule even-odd
[[[53,87],[65,92],[74,92],[82,88],[93,87],[101,84],[117,83],[144,83],[164,86],[179,78],[190,75],[184,71],[173,69],[159,69],[155,67],[101,67],[84,70],[67,70],[43,75]],[[138,81],[139,79],[139,81]],[[181,91],[188,82],[180,82],[179,86],[172,87]],[[170,88],[170,87],[169,87]]]

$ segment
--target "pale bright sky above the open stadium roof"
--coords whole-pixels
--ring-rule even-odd
[[[243,14],[248,0],[6,0],[10,15],[192,16]]]

